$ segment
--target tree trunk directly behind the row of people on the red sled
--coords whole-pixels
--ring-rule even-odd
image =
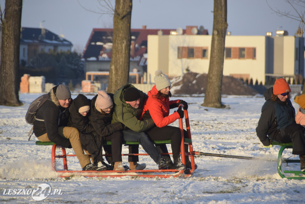
[[[113,46],[109,71],[108,93],[129,81],[132,0],[116,0],[113,15]]]

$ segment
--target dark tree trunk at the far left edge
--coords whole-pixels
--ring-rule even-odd
[[[22,0],[6,0],[2,24],[0,105],[20,106],[19,48]]]

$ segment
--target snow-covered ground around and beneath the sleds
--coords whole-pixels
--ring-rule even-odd
[[[223,96],[224,109],[203,107],[203,97],[172,97],[188,102],[194,151],[255,157],[255,160],[200,156],[190,178],[59,178],[51,171],[51,147],[27,141],[31,128],[24,116],[40,94],[20,94],[21,107],[0,106],[0,202],[34,203],[31,195],[6,195],[9,189],[34,190],[40,184],[61,189],[45,203],[304,203],[305,180],[282,179],[277,173],[279,147],[266,149],[255,128],[264,103],[262,96]],[[73,98],[76,95],[72,96]],[[93,95],[88,95],[92,98]],[[297,109],[299,106],[292,100]],[[178,121],[173,123],[178,126]],[[168,145],[170,150],[170,145]],[[143,149],[140,147],[140,153]],[[68,154],[73,151],[67,149]],[[123,153],[127,148],[123,147]],[[291,156],[285,151],[285,157]],[[297,157],[298,158],[298,157]],[[127,158],[123,157],[127,163]],[[148,156],[147,168],[156,168]],[[299,170],[299,164],[289,164]],[[68,158],[68,167],[81,170]],[[5,194],[5,195],[3,195]]]

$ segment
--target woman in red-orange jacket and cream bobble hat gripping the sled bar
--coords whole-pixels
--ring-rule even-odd
[[[148,119],[151,117],[156,126],[150,129],[147,134],[152,140],[171,139],[174,169],[191,169],[191,162],[189,161],[188,156],[185,157],[186,166],[184,166],[180,160],[180,129],[178,127],[168,126],[175,120],[184,117],[184,111],[180,108],[172,114],[169,114],[170,109],[178,107],[179,104],[183,104],[183,109],[187,110],[188,104],[184,100],[169,100],[169,97],[171,97],[170,80],[167,75],[163,74],[160,70],[157,70],[155,75],[154,80],[156,85],[148,92],[148,98],[143,107],[142,118]],[[187,133],[184,130],[184,135],[186,134]],[[187,145],[185,151],[187,151]]]

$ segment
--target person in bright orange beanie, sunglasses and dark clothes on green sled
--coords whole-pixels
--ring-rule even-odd
[[[266,102],[262,107],[256,133],[265,148],[272,147],[271,141],[292,142],[292,154],[300,155],[301,171],[305,171],[304,129],[296,123],[290,92],[284,78],[277,79],[274,86],[265,91]]]

